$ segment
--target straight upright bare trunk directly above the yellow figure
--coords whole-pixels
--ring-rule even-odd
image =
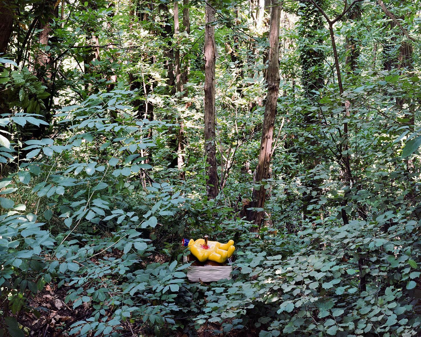
[[[205,157],[206,157],[206,195],[218,195],[218,173],[215,146],[215,8],[205,5]]]

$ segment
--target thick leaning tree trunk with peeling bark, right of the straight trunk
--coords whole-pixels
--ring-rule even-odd
[[[263,209],[266,200],[266,183],[264,180],[270,177],[270,160],[272,157],[273,128],[277,110],[279,94],[279,25],[281,7],[272,1],[269,28],[269,67],[267,70],[267,99],[264,110],[264,120],[258,164],[256,168],[256,183],[260,184],[253,188],[252,207]],[[258,210],[250,213],[250,221],[253,221],[260,228],[264,217],[264,211]]]

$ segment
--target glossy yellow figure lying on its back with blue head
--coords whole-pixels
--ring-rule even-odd
[[[218,241],[208,241],[208,235],[204,239],[191,239],[187,243],[187,239],[183,239],[183,245],[188,246],[192,254],[200,261],[206,260],[224,263],[226,259],[232,257],[235,247],[234,241],[229,240],[227,243]]]

